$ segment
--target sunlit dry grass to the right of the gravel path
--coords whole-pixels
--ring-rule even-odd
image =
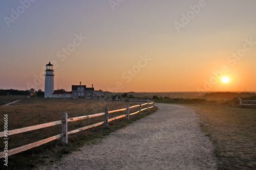
[[[256,110],[189,105],[214,144],[219,169],[256,169]]]

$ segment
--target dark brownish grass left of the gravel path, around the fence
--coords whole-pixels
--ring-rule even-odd
[[[87,99],[44,99],[44,98],[30,98],[19,101],[11,106],[0,106],[0,116],[4,118],[4,114],[8,114],[9,130],[18,129],[38,124],[44,124],[61,120],[61,114],[63,112],[68,113],[68,118],[90,115],[95,113],[104,112],[105,107],[109,107],[109,110],[116,110],[126,107],[126,102],[104,102],[93,101]],[[130,103],[130,105],[136,105],[136,103]],[[138,109],[138,108],[137,108]],[[85,143],[95,143],[97,138],[104,138],[110,132],[120,129],[134,122],[135,120],[142,118],[148,114],[156,111],[151,109],[150,113],[146,111],[141,115],[130,116],[130,120],[127,121],[124,118],[114,120],[109,123],[109,128],[104,126],[95,127],[89,130],[85,130],[73,135],[68,136],[68,146],[62,144],[62,140],[57,139],[52,142],[46,143],[39,147],[30,149],[28,151],[18,153],[8,157],[8,165],[10,169],[29,169],[35,167],[38,164],[51,163],[54,160],[60,158],[63,154],[70,153],[77,150]],[[131,109],[133,112],[134,109]],[[124,114],[124,112],[111,113],[109,118],[117,115]],[[4,131],[4,120],[0,119],[0,131]],[[104,120],[104,116],[95,117],[77,122],[70,122],[68,124],[68,131],[92,125]],[[41,139],[45,139],[61,133],[61,125],[48,127],[44,129],[34,130],[21,134],[10,135],[8,149],[20,147],[25,144],[29,144]],[[3,137],[0,141],[4,141]],[[1,147],[1,152],[3,148]],[[0,159],[3,162],[3,159]],[[4,168],[3,163],[0,164],[1,169]]]

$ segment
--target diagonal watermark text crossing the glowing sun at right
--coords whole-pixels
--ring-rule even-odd
[[[250,51],[256,42],[252,40],[252,38],[245,39],[245,43],[242,48],[240,48],[237,53],[232,53],[232,55],[228,56],[226,61],[231,65],[235,66],[237,64],[237,61],[241,60],[242,57],[246,55],[246,52]],[[212,71],[212,77],[210,77],[208,80],[204,79],[204,86],[203,88],[198,87],[197,91],[199,95],[202,94],[202,92],[210,91],[211,88],[218,83],[218,81],[224,76],[224,74],[227,74],[229,71],[227,65],[223,65],[220,70],[218,71]]]

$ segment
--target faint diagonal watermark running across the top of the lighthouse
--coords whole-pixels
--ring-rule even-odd
[[[74,35],[75,38],[73,39],[73,42],[68,44],[66,47],[62,47],[61,50],[59,50],[57,53],[56,53],[56,56],[58,58],[60,58],[61,60],[60,61],[65,61],[67,59],[67,56],[70,56],[72,52],[75,51],[75,49],[82,44],[82,42],[87,39],[87,37],[83,37],[82,36],[82,33],[80,33],[79,35],[78,34],[75,34]],[[58,68],[59,66],[59,63],[57,60],[52,60],[51,61],[51,64],[54,65],[54,68]],[[44,80],[45,80],[45,69],[46,69],[46,66],[43,65],[42,66],[42,70],[38,76],[36,74],[33,75],[34,77],[34,80],[33,80],[33,83],[30,83],[28,82],[27,83],[27,87],[28,89],[37,89],[38,86],[40,86],[42,83],[44,83]]]

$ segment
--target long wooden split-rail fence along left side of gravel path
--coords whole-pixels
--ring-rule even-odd
[[[146,105],[147,107],[142,109],[142,106],[144,106],[144,105]],[[31,148],[38,147],[39,145],[48,143],[50,141],[56,140],[56,139],[61,138],[61,137],[62,137],[62,142],[63,143],[68,143],[68,135],[71,135],[71,134],[74,134],[74,133],[77,133],[77,132],[80,132],[80,131],[83,131],[83,130],[86,130],[86,129],[90,129],[90,128],[93,128],[93,127],[97,127],[97,126],[100,126],[100,125],[103,125],[103,124],[104,124],[105,127],[108,127],[109,122],[111,122],[113,120],[116,120],[116,119],[119,119],[119,118],[122,118],[122,117],[126,117],[126,119],[129,120],[129,117],[131,115],[134,115],[134,114],[137,114],[137,113],[140,114],[144,110],[149,111],[151,108],[154,108],[154,105],[155,105],[154,100],[153,101],[147,100],[147,103],[144,103],[144,104],[142,104],[140,102],[139,105],[135,105],[135,106],[126,105],[126,108],[118,109],[118,110],[112,110],[112,111],[109,111],[109,108],[106,107],[105,111],[102,112],[102,113],[97,113],[97,114],[92,114],[92,115],[84,115],[84,116],[73,117],[73,118],[68,118],[67,113],[62,113],[61,120],[58,120],[58,121],[55,121],[55,122],[50,122],[50,123],[46,123],[46,124],[40,124],[40,125],[35,125],[35,126],[30,126],[30,127],[20,128],[20,129],[9,130],[8,131],[8,136],[62,124],[62,133],[61,134],[49,137],[47,139],[39,140],[37,142],[33,142],[33,143],[30,143],[30,144],[27,144],[27,145],[23,145],[22,147],[18,147],[18,148],[8,150],[8,152],[7,152],[8,156],[17,154],[19,152],[27,151]],[[136,108],[136,107],[139,108],[138,111],[136,111],[134,113],[130,113],[130,109]],[[110,113],[125,111],[125,110],[126,110],[126,114],[123,114],[123,115],[120,115],[120,116],[109,119],[109,114]],[[88,118],[98,117],[98,116],[102,116],[102,115],[105,115],[105,120],[103,122],[99,122],[99,123],[96,123],[96,124],[93,124],[93,125],[78,128],[78,129],[75,129],[75,130],[72,130],[72,131],[68,132],[68,122],[75,122],[77,120],[88,119]],[[5,133],[0,132],[0,137],[4,137],[4,136],[5,136]],[[3,158],[4,156],[5,156],[5,152],[0,152],[0,158]]]

